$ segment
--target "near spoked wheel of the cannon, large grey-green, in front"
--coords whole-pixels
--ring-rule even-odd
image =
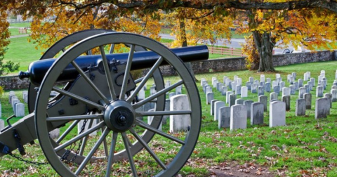
[[[150,70],[145,76],[145,81],[152,76],[154,70],[159,69],[159,64],[163,61],[166,61],[166,63],[169,63],[173,68],[175,68],[178,77],[178,81],[176,81],[176,84],[173,84],[171,86],[166,87],[165,89],[158,89],[157,93],[154,93],[154,95],[150,96],[149,98],[146,98],[145,100],[142,100],[138,103],[133,103],[133,98],[136,96],[136,94],[140,91],[140,88],[143,88],[143,81],[138,84],[135,91],[131,96],[128,98],[119,97],[117,98],[113,94],[111,96],[103,96],[103,100],[105,100],[105,105],[98,105],[97,103],[92,103],[90,100],[84,100],[79,99],[77,96],[72,96],[71,94],[68,94],[67,91],[60,91],[57,87],[54,86],[54,83],[58,79],[58,76],[62,72],[62,70],[65,69],[67,65],[72,63],[72,65],[75,65],[74,59],[77,58],[77,56],[81,55],[82,53],[85,53],[86,51],[90,50],[91,48],[95,48],[98,46],[105,46],[107,44],[130,44],[131,49],[129,51],[129,58],[128,63],[126,64],[126,73],[130,71],[131,63],[132,63],[132,56],[134,52],[134,46],[143,46],[144,48],[147,48],[150,51],[154,51],[159,56],[161,56],[157,62],[149,66]],[[103,47],[102,47],[103,48]],[[103,63],[106,61],[105,59],[105,53],[102,51],[102,58]],[[107,66],[108,67],[108,66]],[[105,67],[105,68],[107,68]],[[108,68],[105,70],[109,70]],[[81,70],[78,70],[79,73],[81,73]],[[84,77],[84,75],[81,75]],[[109,77],[107,77],[108,83],[112,82],[109,81]],[[123,83],[127,83],[128,78],[124,77]],[[144,82],[145,83],[145,82]],[[109,84],[110,90],[113,88],[111,84]],[[125,92],[123,84],[121,86],[121,95],[124,95],[122,93]],[[188,102],[185,104],[190,105],[190,110],[181,110],[181,111],[158,111],[154,110],[154,112],[138,112],[136,111],[137,107],[140,107],[140,105],[143,105],[145,103],[150,103],[153,99],[159,99],[160,96],[164,95],[165,93],[168,93],[172,89],[175,89],[177,86],[184,86],[185,92],[187,94]],[[99,86],[98,86],[99,88]],[[124,89],[123,89],[124,88]],[[60,94],[63,94],[65,96],[70,96],[73,99],[79,100],[81,102],[84,102],[88,105],[93,105],[94,107],[97,107],[98,110],[101,110],[99,114],[96,114],[95,118],[101,117],[103,119],[102,122],[97,124],[96,126],[93,126],[92,129],[89,129],[83,135],[77,135],[74,138],[71,138],[70,140],[67,140],[65,143],[60,143],[58,147],[53,146],[53,140],[51,140],[48,136],[48,127],[47,123],[55,121],[57,119],[58,121],[64,119],[69,121],[69,117],[48,117],[47,119],[47,110],[46,107],[48,107],[48,96],[51,93],[52,90],[59,91]],[[113,89],[112,89],[113,90]],[[112,91],[113,93],[113,91]],[[105,98],[104,98],[105,97]],[[107,98],[112,98],[111,100],[107,100]],[[193,103],[193,104],[192,104]],[[127,112],[131,112],[130,114],[127,114],[127,116],[124,117],[119,112],[119,116],[112,116],[115,115],[114,110],[122,109],[127,110]],[[164,131],[159,131],[158,129],[154,129],[154,124],[157,124],[158,122],[152,122],[150,125],[146,124],[140,119],[136,119],[136,116],[154,116],[154,120],[159,117],[159,120],[161,120],[161,117],[164,115],[175,115],[175,114],[185,114],[187,115],[187,119],[190,119],[190,126],[188,127],[188,131],[183,133],[166,133]],[[87,115],[77,115],[73,117],[74,120],[76,119],[88,119]],[[90,118],[90,117],[89,117]],[[91,118],[94,119],[94,118]],[[186,118],[185,118],[186,119]],[[132,124],[129,124],[127,127],[124,127],[125,129],[117,129],[118,125],[114,125],[111,122],[132,122]],[[185,162],[187,162],[187,159],[190,157],[194,150],[194,146],[197,143],[197,138],[199,136],[199,130],[200,130],[200,124],[201,124],[201,105],[200,105],[200,99],[199,99],[199,93],[197,91],[197,86],[194,83],[193,77],[191,76],[190,72],[188,72],[187,68],[183,64],[183,62],[178,58],[177,55],[172,53],[168,48],[163,46],[162,44],[159,44],[157,41],[154,41],[152,39],[148,39],[147,37],[142,37],[137,34],[128,34],[128,33],[105,33],[105,34],[98,34],[93,37],[89,37],[88,39],[85,39],[81,41],[78,44],[75,44],[70,49],[68,49],[65,53],[60,56],[58,60],[55,61],[53,64],[53,67],[48,70],[46,76],[44,77],[44,81],[42,82],[40,86],[40,90],[37,96],[37,104],[35,107],[35,124],[37,128],[37,136],[39,138],[39,142],[41,145],[42,150],[44,151],[44,155],[48,159],[48,162],[50,162],[51,166],[57,171],[60,176],[81,176],[88,174],[88,170],[90,170],[91,165],[98,165],[95,163],[88,163],[91,161],[91,158],[93,155],[95,155],[95,152],[97,148],[103,143],[104,140],[108,139],[111,140],[110,142],[110,152],[107,155],[107,158],[103,161],[100,161],[99,164],[102,164],[105,162],[105,176],[110,176],[110,173],[114,171],[113,164],[116,163],[116,159],[118,159],[119,155],[125,155],[125,159],[128,159],[128,168],[131,169],[133,176],[138,176],[139,173],[144,173],[144,171],[138,171],[138,164],[136,164],[135,159],[138,157],[138,154],[140,153],[133,153],[136,151],[133,151],[133,147],[131,145],[131,138],[136,139],[136,143],[139,143],[142,145],[145,150],[147,150],[147,155],[150,157],[148,158],[149,161],[155,162],[154,166],[159,166],[159,170],[155,172],[154,174],[150,174],[150,176],[174,176],[180,169],[184,166]],[[67,147],[68,145],[72,143],[77,143],[81,138],[91,133],[93,130],[98,130],[104,128],[103,133],[100,135],[98,140],[95,142],[95,145],[91,145],[89,147],[87,145],[88,154],[85,155],[86,158],[83,160],[79,166],[73,166],[72,164],[67,164],[65,162],[62,162],[60,160],[60,157],[58,157],[57,152],[59,150],[62,150],[63,148]],[[175,146],[174,149],[170,148],[161,148],[161,152],[158,152],[157,150],[154,150],[154,147],[152,147],[152,140],[149,142],[143,140],[143,135],[138,135],[139,129],[143,130],[143,135],[146,134],[147,131],[151,131],[156,136],[154,138],[164,138],[166,141],[171,141]],[[119,140],[117,139],[119,138]],[[157,139],[156,139],[157,142]],[[135,144],[136,144],[135,143]],[[117,146],[122,146],[124,150],[117,149]],[[162,157],[161,155],[173,155],[170,159],[163,159],[166,157]],[[124,164],[125,166],[125,164]]]

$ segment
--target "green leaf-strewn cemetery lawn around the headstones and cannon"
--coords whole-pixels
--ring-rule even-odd
[[[297,79],[303,79],[303,74],[308,71],[311,72],[311,77],[317,79],[320,71],[325,70],[328,86],[324,93],[330,93],[336,69],[336,61],[276,67],[277,73],[281,74],[284,80],[287,74],[292,72],[296,72]],[[265,78],[275,79],[275,73],[256,73],[248,70],[197,74],[196,77],[199,80],[205,78],[211,83],[212,77],[222,81],[224,76],[232,79],[237,75],[242,78],[242,83],[245,83],[249,77],[260,79],[260,74],[264,74]],[[175,82],[175,77],[168,79]],[[337,102],[332,103],[331,113],[327,118],[315,119],[316,87],[310,92],[312,109],[306,110],[305,116],[295,114],[298,91],[295,95],[291,95],[291,110],[286,112],[286,126],[269,127],[268,103],[268,111],[264,112],[265,124],[251,126],[247,120],[247,129],[230,131],[229,128],[218,129],[218,121],[214,121],[210,114],[211,106],[206,105],[206,96],[199,81],[197,86],[203,115],[201,131],[194,152],[178,176],[337,176]],[[288,82],[286,86],[289,86]],[[149,90],[147,89],[147,92]],[[21,99],[22,91],[15,92]],[[225,96],[221,96],[220,92],[213,91],[213,93],[214,98],[225,100]],[[265,92],[265,96],[269,100],[270,93]],[[249,91],[249,96],[244,99],[256,102],[258,95]],[[13,114],[12,108],[8,105],[8,91],[1,96],[1,105],[1,119]],[[18,119],[20,117],[15,118]],[[163,126],[163,131],[169,132],[167,124]],[[154,140],[152,145],[156,150],[175,148],[174,145],[160,139]],[[27,152],[25,159],[46,162],[37,140],[36,144],[25,147]],[[17,151],[14,153],[18,154]],[[142,152],[135,159],[137,166],[145,171],[142,176],[155,173],[155,168],[152,170],[148,166],[157,164],[149,162]],[[116,175],[126,176],[130,172],[125,163],[127,164],[127,162],[114,164]],[[89,176],[100,176],[101,169],[100,163],[97,162],[97,168],[91,169],[93,173]],[[57,176],[50,165],[26,164],[8,155],[1,157],[0,171],[1,176]]]

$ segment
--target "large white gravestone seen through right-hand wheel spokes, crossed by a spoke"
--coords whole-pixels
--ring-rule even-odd
[[[191,110],[187,95],[171,98],[171,111]],[[190,114],[170,115],[170,132],[187,131],[191,126]]]

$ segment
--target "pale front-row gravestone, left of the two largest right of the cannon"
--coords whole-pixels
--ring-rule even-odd
[[[247,128],[247,110],[245,105],[230,107],[230,130]]]

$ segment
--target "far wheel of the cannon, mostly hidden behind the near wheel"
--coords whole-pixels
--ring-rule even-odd
[[[83,39],[86,39],[87,37],[92,37],[93,35],[96,34],[103,34],[106,32],[114,32],[112,30],[109,29],[87,29],[87,30],[83,30],[80,32],[74,32],[73,34],[68,35],[67,37],[64,37],[62,39],[60,39],[59,41],[57,41],[55,44],[53,44],[53,46],[51,46],[50,48],[48,48],[48,50],[44,53],[44,55],[41,56],[40,60],[45,60],[48,58],[54,58],[55,55],[57,55],[58,53],[65,52],[67,47],[70,47],[70,45],[75,44]],[[129,44],[126,44],[126,46],[129,46]],[[140,46],[136,46],[135,51],[145,51],[145,48],[140,47]],[[160,73],[159,70],[155,70],[154,74],[153,74],[153,79],[154,79],[154,84],[157,86],[158,89],[164,89],[164,81],[162,78],[162,75]],[[138,80],[140,81],[140,80]],[[69,86],[69,85],[67,85]],[[67,87],[66,86],[66,87]],[[34,112],[35,109],[35,103],[36,103],[36,99],[37,99],[37,91],[35,90],[35,88],[37,88],[38,86],[35,86],[34,84],[30,83],[29,84],[29,89],[28,89],[28,110],[29,113]],[[55,98],[58,99],[58,98]],[[165,96],[161,96],[159,99],[157,99],[156,101],[156,109],[159,110],[164,110],[165,107]],[[154,124],[154,126],[159,125],[159,121],[157,121],[157,124]],[[154,133],[152,132],[147,132],[146,135],[143,136],[143,138],[145,139],[145,141],[149,141],[152,136],[154,135]],[[56,145],[56,144],[55,144]],[[140,150],[143,149],[143,146],[139,145],[139,143],[133,145],[135,147],[133,147],[133,153],[137,153]],[[62,154],[64,152],[60,152],[58,153],[59,155]],[[72,153],[72,155],[70,155],[70,157],[74,157],[74,153]],[[124,152],[125,154],[126,152]],[[126,157],[125,155],[119,155],[117,158],[117,160],[122,159],[123,157]],[[74,159],[74,162],[76,163],[81,163],[83,161],[85,157],[81,156],[81,155],[77,155],[77,158]],[[101,157],[102,158],[102,157]],[[104,157],[103,157],[104,158]]]

